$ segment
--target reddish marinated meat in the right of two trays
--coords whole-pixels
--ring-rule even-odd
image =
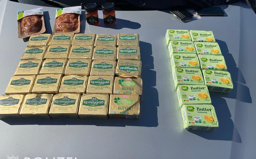
[[[60,15],[56,20],[56,30],[61,32],[71,32],[78,28],[78,15],[67,13]]]

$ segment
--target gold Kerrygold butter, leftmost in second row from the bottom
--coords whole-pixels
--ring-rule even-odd
[[[31,76],[12,76],[5,94],[28,94],[31,93],[34,85],[35,75]]]

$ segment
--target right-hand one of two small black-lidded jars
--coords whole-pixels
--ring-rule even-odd
[[[114,3],[102,4],[102,12],[105,24],[116,24],[116,13]]]

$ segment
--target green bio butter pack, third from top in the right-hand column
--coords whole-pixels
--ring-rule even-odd
[[[198,58],[200,61],[201,69],[228,71],[223,56],[198,55]]]

